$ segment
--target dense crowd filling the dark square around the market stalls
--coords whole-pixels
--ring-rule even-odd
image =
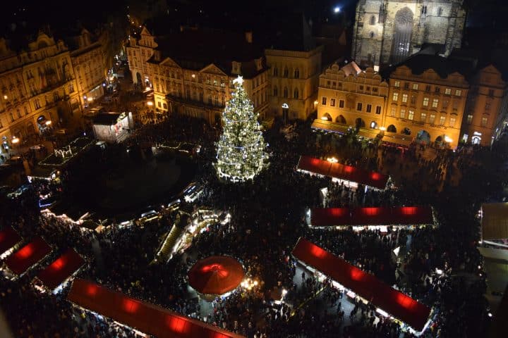
[[[344,303],[348,300],[330,280],[320,282],[310,272],[300,275],[299,271],[305,270],[291,256],[299,237],[433,306],[433,325],[424,332],[425,337],[480,337],[485,332],[489,318],[483,297],[485,274],[480,275],[482,262],[476,249],[475,210],[482,201],[497,198],[505,182],[500,169],[492,169],[488,175],[478,173],[500,167],[497,164],[506,160],[500,149],[435,151],[435,157],[428,158],[416,146],[399,151],[344,138],[339,150],[327,137],[310,132],[308,123],[296,125],[298,137],[286,139],[276,121],[265,131],[270,166],[253,182],[231,184],[219,181],[212,166],[217,129],[203,120],[180,115],[152,122],[134,130],[121,147],[164,142],[200,144],[195,180],[205,189],[195,205],[227,211],[229,223],[210,225],[193,238],[187,251],[176,253],[168,263],[155,263],[157,249],[174,223],[174,213],[164,213],[143,227],[113,226],[99,234],[84,231],[63,218],[40,214],[37,196],[47,189],[66,193],[68,181],[63,180],[63,188],[36,185],[18,201],[6,201],[8,217],[1,220],[2,226],[13,225],[27,239],[42,234],[59,250],[73,247],[89,263],[79,277],[246,337],[402,334],[397,323],[377,316],[372,306],[352,301],[352,310],[346,312]],[[365,193],[327,177],[298,173],[295,169],[301,154],[334,155],[343,163],[389,171],[401,177],[395,180],[398,189]],[[486,159],[490,166],[485,169],[479,163]],[[459,184],[452,182],[456,175]],[[437,211],[437,226],[389,228],[387,233],[310,229],[306,211],[322,206],[323,187],[328,188],[327,206],[430,204]],[[473,194],[478,192],[475,187],[488,189]],[[399,246],[399,256],[394,258],[393,250]],[[195,261],[217,254],[238,258],[246,275],[259,284],[204,306],[189,292],[186,275]],[[111,325],[106,318],[71,306],[65,299],[67,289],[55,296],[38,294],[30,286],[31,277],[33,273],[14,282],[1,279],[1,306],[16,337],[133,337],[132,332]],[[280,302],[282,290],[287,293]],[[29,317],[27,313],[41,315]],[[409,332],[404,334],[411,337]]]

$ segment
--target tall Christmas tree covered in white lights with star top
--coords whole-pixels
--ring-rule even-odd
[[[236,91],[222,113],[224,131],[217,142],[215,168],[220,178],[243,182],[262,170],[267,154],[258,114],[243,89],[242,77],[233,83]]]

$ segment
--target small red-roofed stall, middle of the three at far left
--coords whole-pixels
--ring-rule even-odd
[[[42,237],[36,237],[6,259],[7,268],[16,275],[23,275],[32,265],[52,251]]]

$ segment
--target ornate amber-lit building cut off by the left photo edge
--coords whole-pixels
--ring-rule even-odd
[[[48,125],[80,110],[71,55],[61,40],[40,32],[16,53],[0,40],[0,137],[2,151],[28,142]]]

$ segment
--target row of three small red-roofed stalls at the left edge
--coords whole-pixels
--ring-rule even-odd
[[[39,268],[54,248],[42,237],[35,237],[21,246],[23,239],[12,227],[0,230],[0,271],[4,277],[17,280],[33,268]],[[35,288],[41,292],[58,292],[85,265],[85,260],[73,249],[68,249],[34,279]]]

